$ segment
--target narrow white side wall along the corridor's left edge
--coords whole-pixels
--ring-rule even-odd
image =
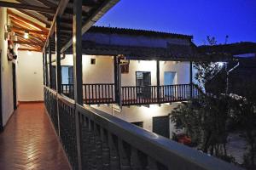
[[[0,7],[0,49],[1,56],[1,79],[2,79],[2,113],[3,126],[8,122],[14,111],[13,105],[13,76],[12,62],[7,59],[8,42],[4,40],[4,26],[7,24],[6,8]]]

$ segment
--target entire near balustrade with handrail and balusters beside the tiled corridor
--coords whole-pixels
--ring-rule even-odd
[[[56,101],[57,111],[51,109]],[[49,116],[59,117],[58,123],[51,120],[60,126],[56,129],[60,129],[61,143],[73,169],[78,165],[110,170],[238,169],[102,111],[75,104],[49,88],[44,88],[44,102]]]

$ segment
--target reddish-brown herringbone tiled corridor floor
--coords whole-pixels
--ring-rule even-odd
[[[68,170],[67,158],[44,112],[44,104],[22,104],[0,133],[0,169]]]

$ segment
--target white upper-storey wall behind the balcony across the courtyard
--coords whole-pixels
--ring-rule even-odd
[[[96,59],[96,65],[90,65],[90,59]],[[73,55],[66,55],[61,65],[73,65]],[[150,71],[151,84],[156,85],[156,61],[130,60],[129,73],[122,74],[122,86],[136,85],[136,71]],[[164,85],[164,71],[177,72],[177,84],[189,83],[189,62],[160,61],[160,85]],[[113,57],[83,55],[83,82],[113,83]]]

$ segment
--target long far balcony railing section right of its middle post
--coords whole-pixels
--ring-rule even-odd
[[[158,95],[159,91],[159,95]],[[122,87],[122,105],[150,105],[198,98],[199,89],[190,84]]]

